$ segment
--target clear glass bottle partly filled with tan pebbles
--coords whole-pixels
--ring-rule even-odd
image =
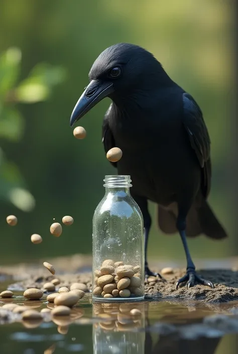
[[[130,176],[105,176],[105,195],[93,215],[93,300],[141,300],[144,286],[144,225],[130,194]]]

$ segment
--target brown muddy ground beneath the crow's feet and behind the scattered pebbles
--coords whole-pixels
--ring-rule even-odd
[[[0,267],[2,280],[9,277],[12,284],[9,286],[15,290],[25,290],[27,288],[42,288],[43,284],[53,278],[60,279],[60,286],[69,287],[74,282],[82,282],[91,290],[91,257],[75,255],[72,257],[57,258],[47,260],[56,269],[55,276],[52,276],[44,267],[42,262],[36,264],[21,264],[11,267]],[[161,268],[153,264],[154,271],[161,271]],[[166,283],[150,279],[145,285],[146,298],[171,299],[171,300],[203,300],[206,302],[226,302],[238,300],[238,271],[230,269],[199,269],[198,274],[215,285],[215,289],[207,286],[196,285],[190,289],[180,286],[176,290],[177,280],[185,274],[185,269],[173,268],[173,273],[164,275]],[[0,278],[0,279],[1,279]]]

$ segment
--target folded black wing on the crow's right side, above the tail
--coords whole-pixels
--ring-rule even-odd
[[[210,138],[202,111],[193,97],[183,93],[183,124],[202,169],[201,190],[207,197],[211,186]]]

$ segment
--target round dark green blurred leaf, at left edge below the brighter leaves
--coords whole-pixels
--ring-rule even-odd
[[[25,120],[21,113],[10,107],[0,109],[0,137],[12,141],[19,141],[24,132]]]

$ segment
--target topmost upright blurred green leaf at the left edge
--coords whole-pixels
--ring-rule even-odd
[[[9,48],[0,56],[0,95],[6,95],[15,85],[20,72],[21,58],[21,50],[16,47]]]

